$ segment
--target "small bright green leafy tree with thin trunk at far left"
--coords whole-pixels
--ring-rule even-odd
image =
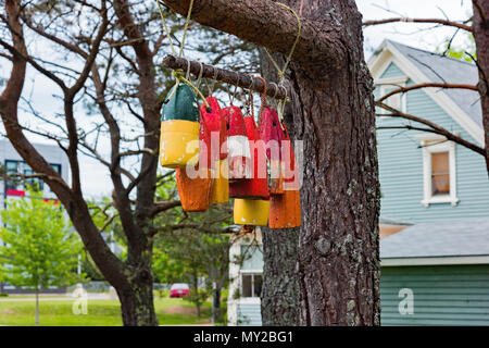
[[[0,212],[0,274],[4,282],[36,294],[39,325],[39,290],[73,285],[82,243],[71,229],[59,203],[45,201],[41,191],[28,189],[28,198],[12,199]]]

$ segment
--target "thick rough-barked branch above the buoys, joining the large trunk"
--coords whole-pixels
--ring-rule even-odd
[[[187,14],[190,2],[162,1],[183,15]],[[292,12],[268,0],[196,0],[191,18],[283,54],[289,54],[298,35],[298,22]],[[339,21],[336,17],[324,22],[301,18],[301,36],[292,59],[302,66],[315,69],[339,69],[346,64],[349,40],[341,37],[344,30],[340,29],[343,24]]]

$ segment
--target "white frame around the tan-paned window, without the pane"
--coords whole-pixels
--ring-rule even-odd
[[[456,197],[456,164],[455,164],[455,144],[453,141],[443,141],[444,137],[419,135],[415,138],[422,138],[423,146],[423,200],[422,204],[427,208],[434,203],[451,203],[453,207],[459,202]],[[440,140],[443,142],[426,146],[428,140]],[[450,194],[443,196],[431,196],[431,153],[449,152],[450,170]]]

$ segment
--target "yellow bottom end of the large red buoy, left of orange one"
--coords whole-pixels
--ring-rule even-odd
[[[235,224],[266,226],[268,223],[269,201],[262,199],[235,199]]]

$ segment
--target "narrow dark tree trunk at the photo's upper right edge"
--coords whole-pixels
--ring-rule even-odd
[[[479,94],[482,107],[484,140],[486,166],[489,175],[489,2],[473,1],[474,16],[472,28],[477,51],[479,69]]]

